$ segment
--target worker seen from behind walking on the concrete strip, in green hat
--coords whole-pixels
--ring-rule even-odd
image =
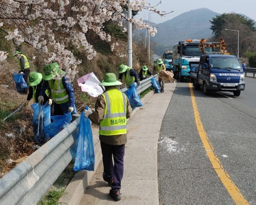
[[[124,172],[125,143],[127,142],[126,119],[131,117],[131,105],[127,96],[117,89],[122,83],[114,73],[107,73],[99,85],[105,92],[98,96],[95,111],[84,110],[85,117],[99,123],[99,140],[102,150],[103,179],[111,186],[109,195],[121,199],[120,188]],[[113,157],[113,161],[112,161]]]

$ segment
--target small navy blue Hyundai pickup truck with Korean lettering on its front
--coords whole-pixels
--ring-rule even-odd
[[[190,80],[195,90],[202,87],[204,95],[225,91],[239,96],[245,88],[245,68],[234,55],[201,55],[198,66],[190,70]]]

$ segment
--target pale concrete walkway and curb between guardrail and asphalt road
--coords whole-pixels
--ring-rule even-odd
[[[162,119],[176,85],[166,83],[163,93],[149,92],[142,98],[143,107],[136,108],[128,120],[125,168],[120,189],[122,199],[115,204],[159,204],[157,143]],[[93,135],[93,139],[96,135],[96,141],[99,142],[98,129],[93,129]],[[66,189],[67,195],[62,197],[59,202],[67,205],[113,204],[114,200],[108,195],[110,187],[102,179],[103,165],[99,143],[95,143],[95,156],[95,167],[98,167],[96,172],[81,171],[76,174]],[[92,178],[88,177],[89,175],[93,175]],[[82,192],[84,192],[83,196]],[[80,204],[79,199],[81,199]]]

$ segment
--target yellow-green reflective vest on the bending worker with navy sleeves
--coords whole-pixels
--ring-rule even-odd
[[[69,100],[67,90],[64,88],[61,79],[50,80],[48,82],[49,82],[49,87],[51,89],[52,99],[55,103],[61,104]]]

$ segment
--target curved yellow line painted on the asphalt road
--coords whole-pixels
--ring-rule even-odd
[[[206,150],[206,153],[209,157],[210,162],[212,163],[212,167],[214,168],[215,172],[217,173],[218,177],[221,179],[221,182],[227,189],[230,196],[233,198],[234,202],[237,205],[245,205],[249,204],[246,199],[244,199],[244,196],[241,194],[239,189],[236,187],[234,182],[230,179],[230,176],[228,173],[224,170],[223,166],[221,165],[220,160],[218,157],[214,154],[212,144],[210,143],[206,132],[204,131],[204,126],[201,122],[201,118],[197,109],[197,105],[195,102],[195,95],[192,89],[192,84],[189,83],[189,89],[191,93],[191,99],[192,99],[192,105],[195,115],[195,124],[198,129],[199,136],[201,138],[202,143],[204,144],[204,149]]]

